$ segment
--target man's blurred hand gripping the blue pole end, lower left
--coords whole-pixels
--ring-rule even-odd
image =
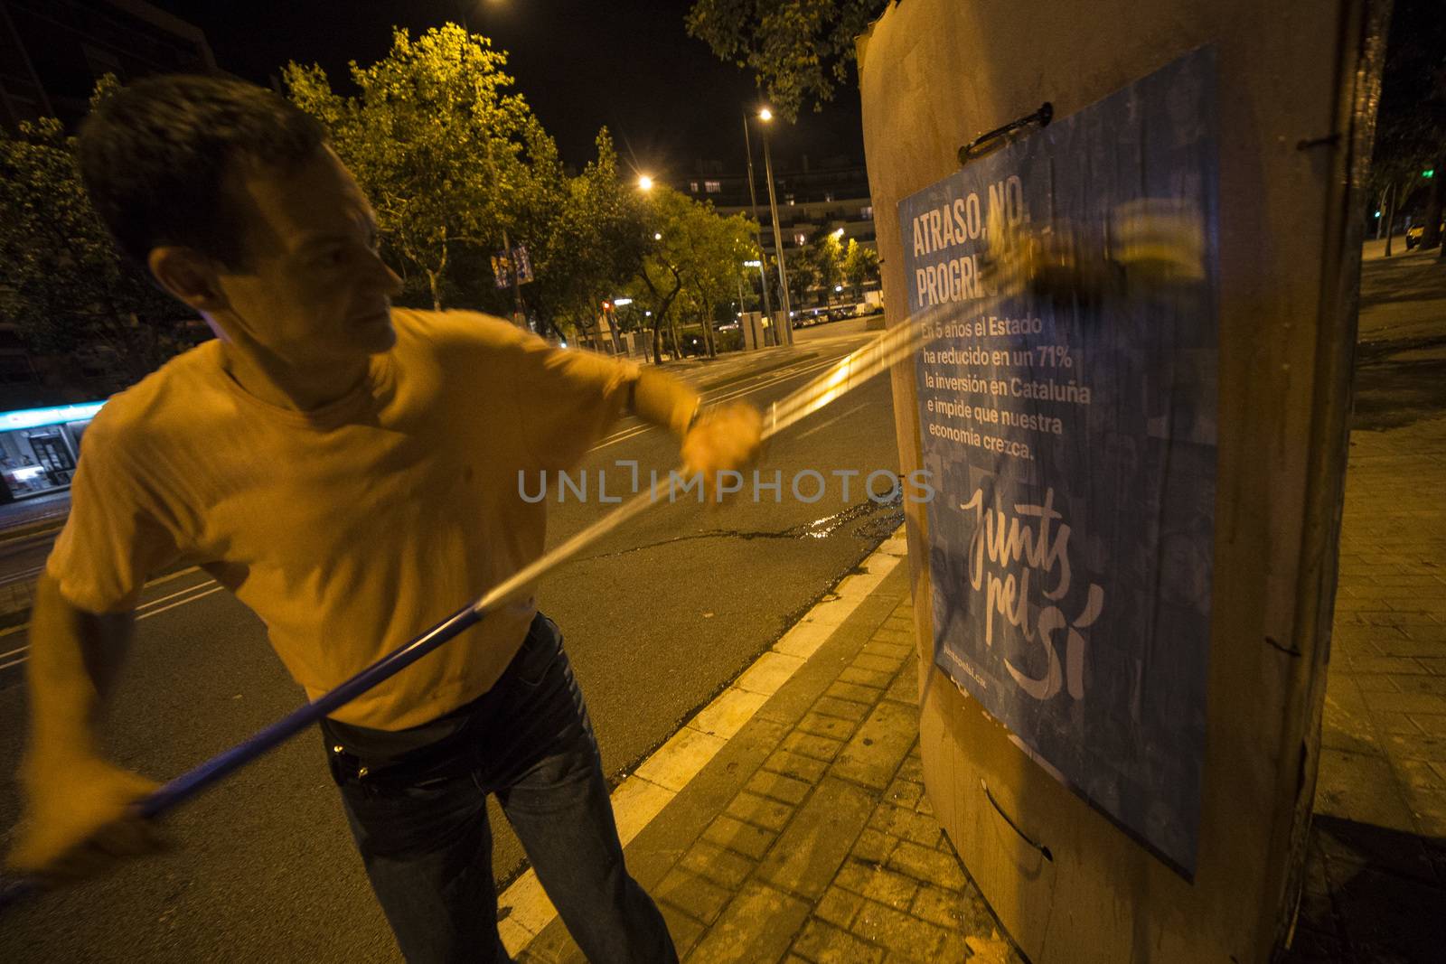
[[[26,814],[6,856],[9,870],[72,882],[162,845],[155,825],[133,809],[159,785],[136,773],[78,756],[30,760],[22,782]]]

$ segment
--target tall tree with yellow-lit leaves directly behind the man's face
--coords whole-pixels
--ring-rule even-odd
[[[288,95],[327,124],[333,149],[372,199],[408,292],[434,309],[457,247],[500,250],[519,207],[554,186],[528,165],[528,153],[545,153],[551,142],[509,90],[505,65],[487,38],[448,23],[416,39],[398,29],[383,59],[353,61],[351,97],[333,91],[317,65],[283,71]]]

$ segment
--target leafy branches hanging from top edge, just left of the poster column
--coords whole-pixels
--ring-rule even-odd
[[[774,111],[821,110],[855,62],[853,40],[889,0],[697,0],[688,33],[748,68]]]

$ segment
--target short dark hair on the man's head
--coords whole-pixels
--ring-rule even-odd
[[[228,176],[291,168],[325,143],[321,123],[283,97],[223,77],[155,77],[107,97],[80,133],[85,191],[116,243],[145,266],[181,244],[240,269],[243,223]]]

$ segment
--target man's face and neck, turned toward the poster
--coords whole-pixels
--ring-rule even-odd
[[[239,345],[288,366],[347,364],[396,343],[401,279],[376,254],[376,218],[330,149],[291,171],[230,179],[243,266],[223,269],[215,321]]]

